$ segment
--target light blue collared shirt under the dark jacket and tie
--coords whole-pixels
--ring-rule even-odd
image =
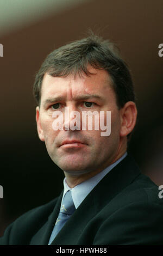
[[[62,196],[62,200],[68,190],[71,190],[72,199],[75,208],[77,209],[78,206],[83,202],[83,200],[86,198],[87,194],[93,190],[93,188],[98,184],[99,181],[101,181],[106,174],[110,172],[112,168],[114,168],[118,163],[120,163],[124,157],[127,156],[127,153],[125,153],[123,156],[121,156],[120,159],[118,159],[115,163],[112,163],[110,166],[106,167],[102,172],[96,174],[92,178],[85,180],[84,182],[78,184],[77,186],[71,188],[68,186],[66,182],[66,178],[64,179],[64,194]],[[62,202],[61,202],[62,205]],[[53,231],[52,231],[53,233]],[[49,239],[49,245],[53,241],[53,235],[51,235]]]

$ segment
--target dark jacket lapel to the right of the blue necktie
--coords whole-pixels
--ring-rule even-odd
[[[76,245],[87,223],[138,175],[140,170],[135,161],[127,156],[87,195],[51,245]]]

